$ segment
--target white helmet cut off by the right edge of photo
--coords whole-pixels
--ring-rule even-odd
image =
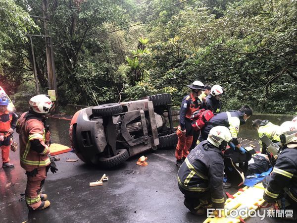
[[[281,143],[287,145],[289,143],[295,142],[297,144],[297,124],[295,121],[285,121],[280,126],[280,139]],[[287,145],[291,147],[290,145]]]

